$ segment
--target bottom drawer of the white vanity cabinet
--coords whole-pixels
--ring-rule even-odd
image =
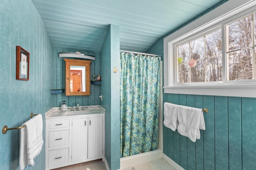
[[[50,150],[49,151],[49,167],[64,165],[68,163],[69,148]]]

